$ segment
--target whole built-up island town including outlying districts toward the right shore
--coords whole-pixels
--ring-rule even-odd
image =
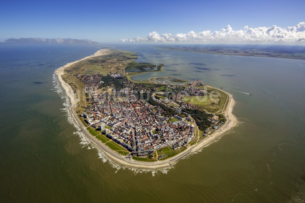
[[[93,130],[100,131],[130,152],[127,158],[166,159],[168,154],[154,157],[157,156],[154,152],[166,147],[184,150],[194,139],[196,123],[184,109],[199,107],[181,103],[178,98],[185,95],[204,96],[207,92],[195,88],[196,85],[203,85],[200,81],[186,84],[183,88],[181,85],[148,88],[128,81],[120,73],[109,74],[107,77],[123,81],[123,85],[119,84],[119,88],[116,88],[114,83],[105,86],[105,81],[98,74],[78,74],[76,77],[86,84],[86,91],[92,99],[90,108],[81,112],[81,118]],[[177,96],[175,90],[179,90]],[[151,99],[158,105],[146,101],[147,98],[138,99],[141,94],[151,94]],[[167,111],[170,109],[171,113],[168,114],[164,107]],[[224,123],[213,114],[209,115],[208,122],[211,130],[204,129],[203,136],[208,136]]]

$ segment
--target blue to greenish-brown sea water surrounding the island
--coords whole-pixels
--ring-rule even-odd
[[[159,171],[119,166],[78,133],[54,71],[111,46],[233,95],[238,126]],[[288,47],[292,48],[293,47]],[[0,45],[1,202],[304,202],[305,61],[151,45]],[[252,94],[249,95],[249,94]]]

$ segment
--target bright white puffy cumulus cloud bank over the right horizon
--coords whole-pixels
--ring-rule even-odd
[[[284,41],[302,42],[305,41],[305,22],[292,27],[257,27],[249,28],[247,25],[243,30],[233,30],[230,25],[225,28],[211,32],[210,30],[195,33],[190,31],[187,34],[170,33],[159,34],[153,31],[147,37],[135,37],[133,39],[120,39],[121,42],[225,42],[225,41]]]

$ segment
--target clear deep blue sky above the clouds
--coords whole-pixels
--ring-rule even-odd
[[[249,27],[295,26],[305,1],[7,1],[0,5],[0,41],[77,38],[113,42],[148,33],[188,33]]]

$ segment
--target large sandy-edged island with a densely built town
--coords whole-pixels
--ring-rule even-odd
[[[137,58],[102,49],[56,70],[75,123],[111,160],[134,168],[173,166],[236,125],[231,94],[199,80],[132,80],[163,71],[163,64]]]

